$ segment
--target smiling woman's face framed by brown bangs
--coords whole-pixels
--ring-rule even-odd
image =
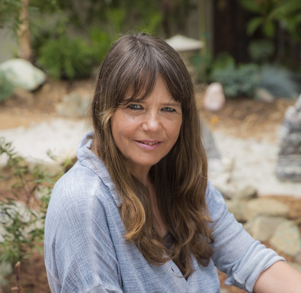
[[[139,177],[166,156],[177,141],[182,109],[159,77],[147,99],[120,106],[110,119],[113,139],[129,159],[132,174]]]

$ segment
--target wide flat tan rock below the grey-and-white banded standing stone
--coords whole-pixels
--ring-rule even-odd
[[[247,220],[251,220],[259,215],[287,218],[288,213],[288,206],[278,200],[271,198],[255,198],[247,202],[244,217]]]

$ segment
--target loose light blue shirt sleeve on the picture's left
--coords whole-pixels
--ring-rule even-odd
[[[122,293],[105,211],[94,197],[97,186],[86,186],[61,180],[51,195],[44,244],[51,292]]]

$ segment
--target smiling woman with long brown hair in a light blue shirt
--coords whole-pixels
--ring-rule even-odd
[[[121,37],[101,65],[92,116],[48,207],[52,292],[219,292],[214,266],[248,292],[299,286],[207,182],[193,84],[169,45]]]

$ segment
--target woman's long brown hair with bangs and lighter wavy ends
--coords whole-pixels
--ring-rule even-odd
[[[142,101],[153,91],[158,77],[182,106],[182,125],[170,152],[150,169],[157,204],[173,238],[170,249],[156,232],[146,187],[129,172],[128,161],[111,135],[110,117],[124,104]],[[188,71],[166,42],[137,34],[122,36],[101,64],[92,105],[93,150],[102,159],[122,198],[121,217],[126,240],[134,242],[145,259],[160,265],[174,260],[188,276],[192,272],[190,254],[206,266],[213,241],[205,201],[207,159],[201,143],[200,121],[194,86]]]

